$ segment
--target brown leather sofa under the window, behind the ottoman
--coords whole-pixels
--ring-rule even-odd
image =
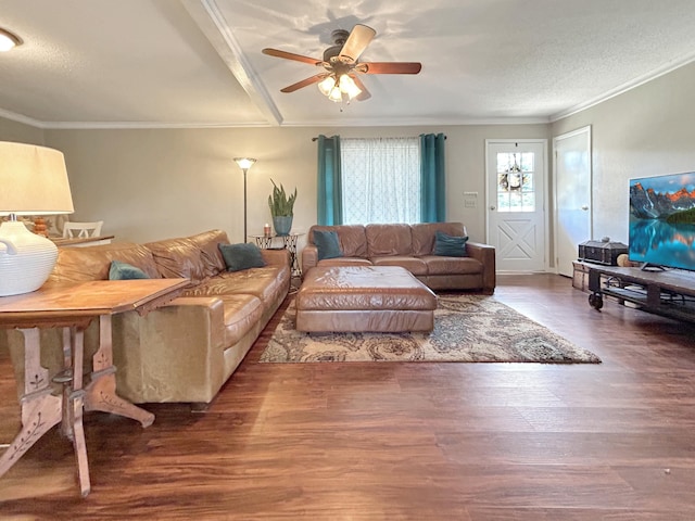
[[[336,231],[342,251],[337,258],[318,259],[314,231]],[[465,237],[462,223],[419,225],[313,226],[302,250],[302,270],[314,266],[401,266],[432,290],[495,291],[495,250],[488,244],[466,243],[467,256],[434,255],[437,231]]]

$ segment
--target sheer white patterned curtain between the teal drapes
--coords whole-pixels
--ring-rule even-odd
[[[343,224],[419,223],[418,138],[341,138]]]

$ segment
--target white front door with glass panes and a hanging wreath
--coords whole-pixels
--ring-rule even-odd
[[[488,243],[497,271],[546,268],[546,140],[486,140]]]

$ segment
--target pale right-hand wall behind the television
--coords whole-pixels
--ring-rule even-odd
[[[593,239],[628,244],[629,179],[695,170],[694,92],[690,64],[552,125],[592,126]]]

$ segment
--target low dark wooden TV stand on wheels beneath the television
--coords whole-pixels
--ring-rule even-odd
[[[645,312],[695,320],[695,274],[591,265],[589,291],[589,304],[595,309],[603,307],[606,295]]]

